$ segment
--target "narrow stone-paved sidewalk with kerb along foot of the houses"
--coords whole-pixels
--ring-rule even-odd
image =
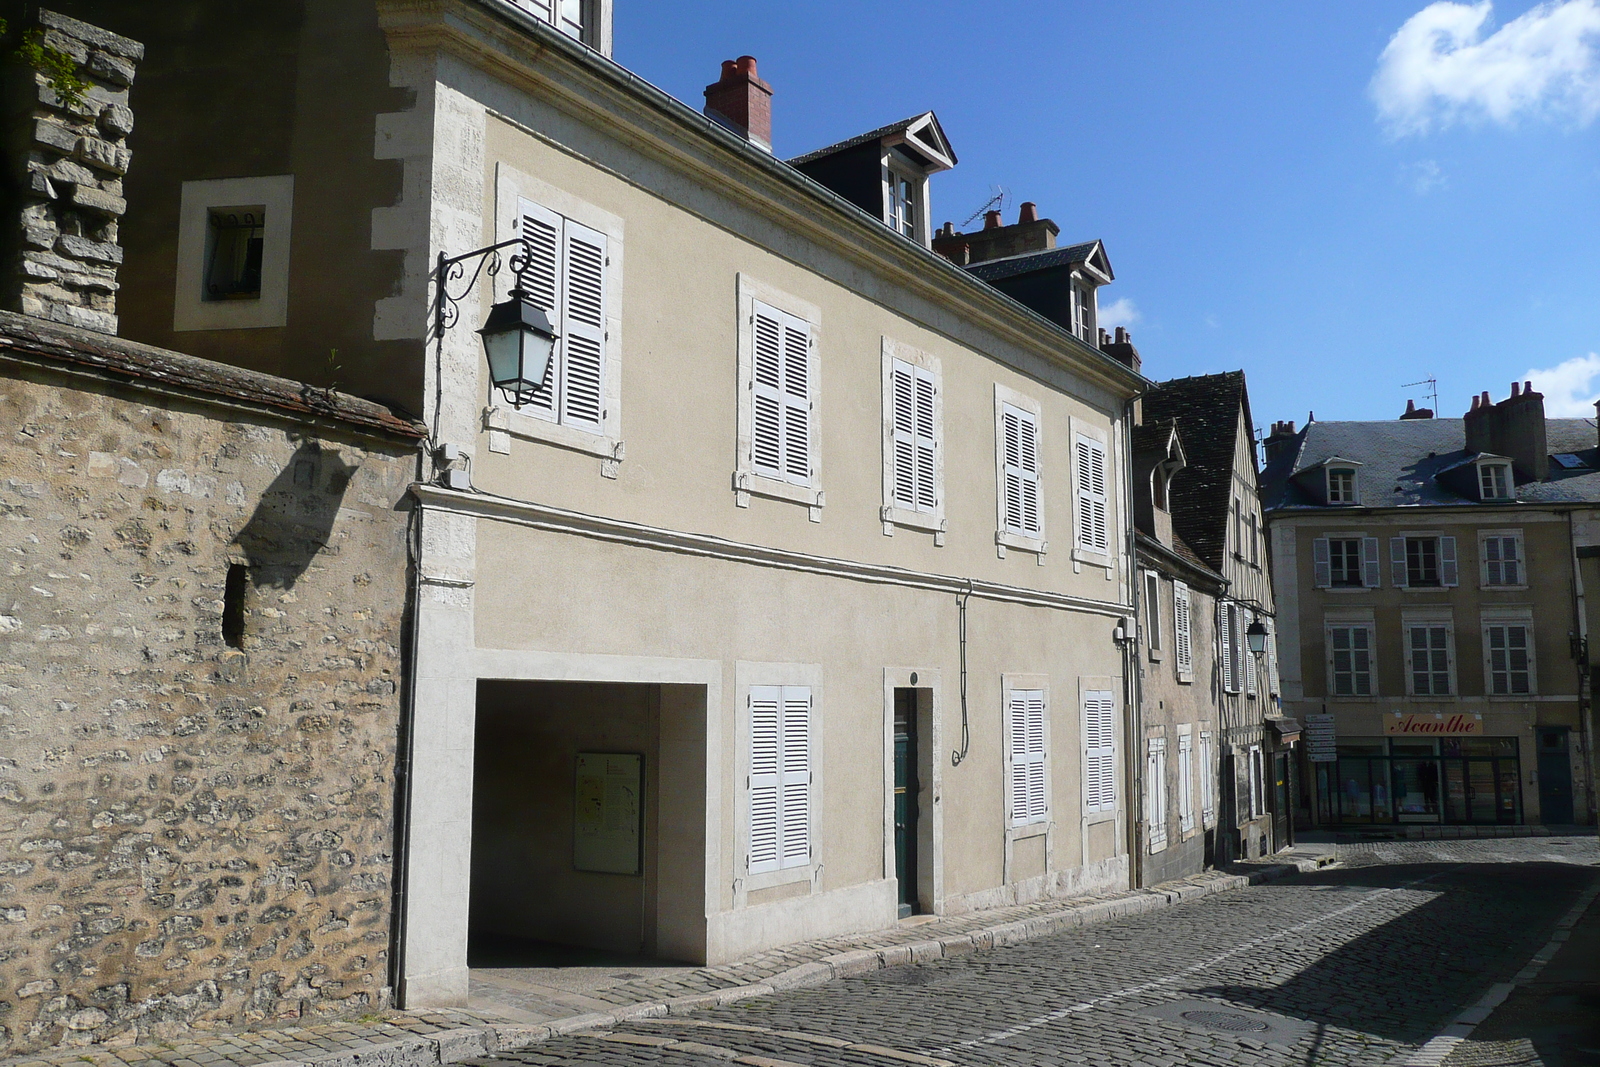
[[[717,966],[603,982],[584,992],[558,990],[560,998],[536,992],[518,997],[515,969],[496,968],[474,982],[472,1006],[464,1009],[387,1011],[242,1033],[190,1032],[152,1045],[56,1048],[0,1061],[0,1067],[437,1067],[528,1049],[565,1033],[680,1016],[776,990],[1048,937],[1315,870],[1326,862],[1326,851],[1296,849],[1274,862],[1235,864],[1229,870],[1208,870],[1146,889],[936,917],[867,934],[786,945]]]

